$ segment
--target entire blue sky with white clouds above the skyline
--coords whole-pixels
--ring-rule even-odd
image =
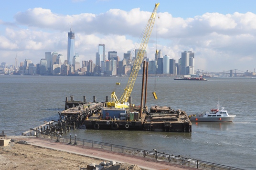
[[[256,68],[256,0],[1,0],[0,63],[25,59],[38,64],[45,52],[67,57],[67,32],[75,32],[80,62],[105,53],[139,48],[155,7],[158,17],[147,56],[156,49],[176,60],[195,53],[195,69],[223,72]]]

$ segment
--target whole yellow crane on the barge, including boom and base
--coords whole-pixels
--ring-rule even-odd
[[[154,8],[154,10],[153,10],[153,12],[152,12],[152,14],[149,18],[148,23],[147,23],[145,32],[144,32],[143,37],[142,37],[142,41],[141,41],[140,46],[139,46],[137,57],[135,59],[134,65],[132,67],[131,74],[129,76],[128,83],[126,85],[126,88],[124,89],[124,93],[121,96],[120,100],[118,100],[115,92],[113,91],[112,94],[111,94],[111,102],[107,103],[108,107],[115,107],[115,108],[124,107],[124,108],[127,108],[129,106],[128,105],[128,99],[129,99],[129,96],[131,95],[133,86],[135,84],[135,80],[136,80],[138,72],[139,72],[140,64],[142,63],[142,60],[144,58],[144,53],[146,51],[146,48],[147,48],[147,45],[148,45],[148,42],[149,42],[149,37],[151,35],[152,29],[153,29],[153,26],[154,26],[154,23],[155,23],[156,13],[157,13],[157,9],[158,9],[159,4],[160,3],[155,4],[155,8]]]

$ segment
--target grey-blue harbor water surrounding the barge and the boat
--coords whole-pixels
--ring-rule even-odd
[[[149,77],[147,106],[170,106],[188,115],[209,112],[220,105],[233,122],[192,122],[191,133],[129,130],[72,130],[99,142],[209,161],[246,170],[256,169],[256,78],[208,78],[209,81],[175,81],[170,77]],[[142,77],[131,93],[140,105]],[[120,82],[120,85],[116,85]],[[121,97],[128,77],[0,75],[0,131],[6,135],[22,132],[58,120],[65,97],[77,101],[104,102],[116,92]],[[152,92],[158,99],[155,100]],[[65,134],[64,134],[65,135]]]

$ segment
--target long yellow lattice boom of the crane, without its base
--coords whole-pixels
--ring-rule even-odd
[[[156,12],[157,12],[159,4],[160,3],[155,4],[155,8],[154,8],[154,10],[153,10],[153,12],[152,12],[152,14],[149,18],[149,21],[148,21],[148,24],[146,26],[145,32],[143,34],[142,42],[140,43],[140,47],[139,47],[137,57],[135,59],[134,65],[132,67],[131,74],[129,76],[128,83],[126,85],[126,88],[124,89],[123,95],[121,96],[121,98],[119,100],[119,102],[121,102],[121,103],[128,102],[129,96],[131,95],[133,86],[135,84],[135,80],[136,80],[138,72],[139,72],[139,67],[140,67],[140,64],[143,61],[144,53],[146,51],[146,48],[147,48],[147,45],[148,45],[148,42],[149,42],[149,37],[151,35],[152,29],[153,29],[153,26],[154,26],[154,23],[155,23]]]

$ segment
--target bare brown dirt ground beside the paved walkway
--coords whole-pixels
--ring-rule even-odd
[[[103,160],[11,142],[0,147],[0,170],[85,170]]]

